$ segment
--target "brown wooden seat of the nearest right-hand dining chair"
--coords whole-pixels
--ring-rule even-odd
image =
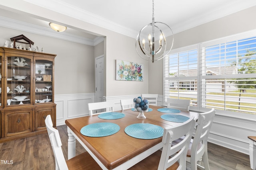
[[[145,158],[144,160],[138,162],[128,170],[157,170],[161,154],[162,152],[158,150],[154,152],[152,155]],[[167,170],[176,170],[178,166],[179,163],[176,162],[175,164],[167,168]]]

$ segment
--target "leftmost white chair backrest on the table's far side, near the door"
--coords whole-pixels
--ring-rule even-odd
[[[88,103],[88,109],[90,115],[98,115],[100,113],[106,113],[106,112],[111,112],[114,111],[114,103],[107,101],[107,102],[96,102],[96,103]],[[98,113],[93,113],[95,110],[99,110],[100,112]],[[104,111],[102,111],[104,109]]]

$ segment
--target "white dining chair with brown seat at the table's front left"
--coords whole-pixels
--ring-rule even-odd
[[[45,125],[55,157],[56,170],[101,170],[100,166],[88,152],[79,154],[66,161],[61,148],[62,143],[59,131],[52,127],[51,115],[46,116]]]

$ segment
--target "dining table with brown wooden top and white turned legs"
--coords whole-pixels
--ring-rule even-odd
[[[157,109],[162,107],[150,105],[149,108],[152,111],[144,113],[146,119],[138,119],[138,112],[131,109],[115,111],[125,114],[121,119],[100,119],[98,115],[67,119],[65,123],[68,127],[68,159],[76,155],[76,139],[96,160],[100,167],[106,170],[128,169],[161,149],[163,147],[162,137],[138,139],[127,135],[124,131],[127,126],[135,123],[150,123],[162,128],[180,124],[162,119],[161,115],[168,114],[157,111]],[[192,111],[181,111],[175,114],[198,118],[198,113]],[[80,133],[84,126],[99,122],[115,123],[120,126],[120,130],[113,135],[105,137],[88,137]]]

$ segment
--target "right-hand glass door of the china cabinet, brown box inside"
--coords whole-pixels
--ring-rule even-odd
[[[36,60],[35,63],[35,102],[42,104],[52,102],[52,61]]]

